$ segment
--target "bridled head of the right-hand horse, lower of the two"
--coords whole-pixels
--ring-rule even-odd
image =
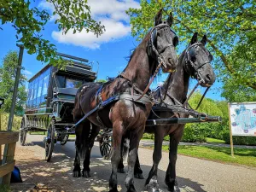
[[[185,50],[185,71],[197,79],[203,87],[210,87],[216,79],[213,72],[211,53],[206,49],[207,36],[204,35],[200,42],[197,41],[198,33],[191,38],[189,47]]]

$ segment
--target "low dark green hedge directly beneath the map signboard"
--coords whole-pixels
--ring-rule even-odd
[[[230,144],[230,131],[225,131],[223,135],[225,143]],[[234,145],[256,145],[256,137],[233,136]]]

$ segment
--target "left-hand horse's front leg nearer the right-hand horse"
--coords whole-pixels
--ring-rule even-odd
[[[130,148],[128,154],[128,172],[125,178],[125,186],[127,191],[135,192],[134,187],[134,168],[137,161],[137,149],[141,138],[143,137],[144,125],[137,129],[137,131],[132,131],[130,135]]]

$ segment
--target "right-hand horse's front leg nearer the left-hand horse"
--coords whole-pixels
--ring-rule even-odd
[[[161,127],[155,127],[154,129],[154,164],[150,172],[148,173],[148,178],[146,180],[145,186],[147,186],[148,189],[151,189],[151,191],[158,191],[159,184],[157,183],[157,170],[160,160],[162,158],[162,144],[165,137],[165,131],[162,130]]]

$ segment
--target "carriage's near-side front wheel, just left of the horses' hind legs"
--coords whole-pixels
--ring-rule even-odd
[[[53,149],[55,147],[55,125],[54,121],[51,122],[47,131],[47,137],[45,140],[45,160],[49,162],[52,156]]]

